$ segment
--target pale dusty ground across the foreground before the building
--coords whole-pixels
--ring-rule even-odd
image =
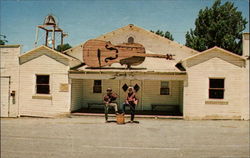
[[[91,116],[2,118],[1,158],[250,157],[249,121],[137,121],[118,125]]]

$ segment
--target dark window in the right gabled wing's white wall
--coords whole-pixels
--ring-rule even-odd
[[[209,98],[224,98],[224,79],[209,79]]]

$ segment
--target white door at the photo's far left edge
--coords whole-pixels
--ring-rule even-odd
[[[9,116],[10,109],[10,77],[1,77],[1,117]]]

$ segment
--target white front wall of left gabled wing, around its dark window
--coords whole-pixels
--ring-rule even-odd
[[[70,87],[68,92],[60,91],[60,84],[69,83],[68,70],[68,66],[46,55],[20,65],[20,115],[53,116],[70,112]],[[50,75],[51,94],[47,98],[36,94],[36,74]]]

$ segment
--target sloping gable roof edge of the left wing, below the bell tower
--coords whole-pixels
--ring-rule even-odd
[[[60,53],[56,50],[53,50],[47,46],[41,45],[37,48],[34,48],[22,55],[19,56],[19,62],[20,64],[26,63],[32,59],[38,58],[42,55],[46,55],[64,65],[74,67],[81,64],[81,61],[79,61],[76,58],[70,57],[68,55],[65,55],[63,53]]]

